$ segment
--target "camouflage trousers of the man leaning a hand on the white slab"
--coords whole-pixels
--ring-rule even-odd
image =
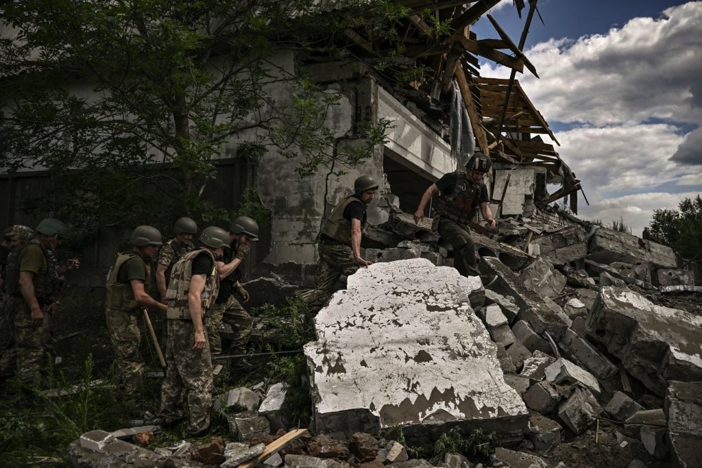
[[[331,288],[339,277],[350,276],[358,271],[359,266],[353,259],[351,246],[319,243],[319,272],[317,286],[307,297],[310,307],[322,307],[331,297]]]

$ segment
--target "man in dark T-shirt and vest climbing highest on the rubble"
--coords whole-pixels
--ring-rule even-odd
[[[492,162],[482,152],[476,151],[465,163],[465,172],[444,174],[430,185],[414,213],[414,222],[418,223],[424,218],[424,208],[432,195],[441,192],[434,209],[433,229],[438,229],[439,235],[453,246],[453,266],[463,276],[480,276],[468,227],[478,208],[490,229],[495,229],[487,187],[482,181],[491,166]],[[482,277],[484,286],[489,286],[495,279],[496,276]]]

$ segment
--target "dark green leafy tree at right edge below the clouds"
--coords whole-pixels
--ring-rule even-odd
[[[673,247],[684,258],[702,256],[702,198],[684,199],[679,210],[656,210],[649,232],[651,239]]]

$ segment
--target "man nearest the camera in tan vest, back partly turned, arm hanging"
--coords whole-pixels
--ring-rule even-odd
[[[204,434],[210,425],[212,359],[203,315],[213,305],[219,290],[216,258],[229,247],[229,236],[219,227],[203,229],[199,240],[203,248],[183,255],[173,266],[168,283],[168,366],[161,385],[159,411],[166,425],[182,420],[183,397],[187,394],[190,436]]]

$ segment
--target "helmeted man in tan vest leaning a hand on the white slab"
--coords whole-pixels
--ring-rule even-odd
[[[310,307],[322,307],[339,276],[350,276],[359,267],[372,265],[361,257],[361,236],[366,227],[366,205],[373,201],[378,184],[369,175],[354,182],[354,194],[340,201],[319,234],[317,287],[307,296]]]

